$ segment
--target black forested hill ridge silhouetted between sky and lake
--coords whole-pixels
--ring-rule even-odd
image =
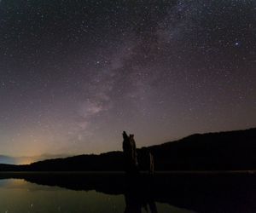
[[[120,141],[121,146],[121,141]],[[189,135],[178,141],[137,149],[141,170],[148,170],[148,152],[155,170],[256,170],[256,128]],[[124,170],[122,152],[56,158],[0,170]]]

